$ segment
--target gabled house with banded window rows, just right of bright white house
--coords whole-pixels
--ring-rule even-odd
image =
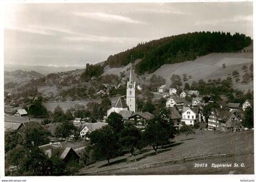
[[[222,108],[212,108],[208,116],[208,130],[221,130],[221,123],[225,123],[230,112]]]

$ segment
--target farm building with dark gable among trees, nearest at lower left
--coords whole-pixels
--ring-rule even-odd
[[[78,163],[80,159],[80,156],[71,147],[63,147],[60,142],[50,142],[49,144],[41,145],[38,148],[43,150],[49,158],[57,156],[65,163],[69,163],[71,161],[77,161]]]

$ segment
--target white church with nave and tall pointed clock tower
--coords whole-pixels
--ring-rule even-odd
[[[129,77],[129,80],[127,81],[127,86],[126,86],[126,101],[124,100],[124,96],[119,97],[115,105],[113,105],[112,108],[110,108],[107,111],[107,117],[112,112],[116,112],[116,113],[120,113],[120,112],[136,113],[137,112],[136,82],[135,82],[135,79],[133,78],[132,63],[130,64],[130,77]]]

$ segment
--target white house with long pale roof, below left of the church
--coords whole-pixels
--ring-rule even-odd
[[[106,122],[85,122],[84,124],[77,126],[80,130],[80,137],[85,138],[87,133],[91,133],[95,130],[98,130],[105,125],[108,125]]]

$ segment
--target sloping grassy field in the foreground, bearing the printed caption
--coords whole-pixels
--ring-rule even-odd
[[[81,169],[77,175],[163,175],[163,174],[227,174],[254,173],[254,133],[214,133],[196,131],[195,135],[180,135],[172,144],[155,155],[149,147],[137,155],[137,163],[130,154],[107,161],[99,161]],[[194,167],[207,163],[208,167]],[[212,163],[231,163],[232,167],[211,167]],[[244,167],[233,167],[244,163]]]

